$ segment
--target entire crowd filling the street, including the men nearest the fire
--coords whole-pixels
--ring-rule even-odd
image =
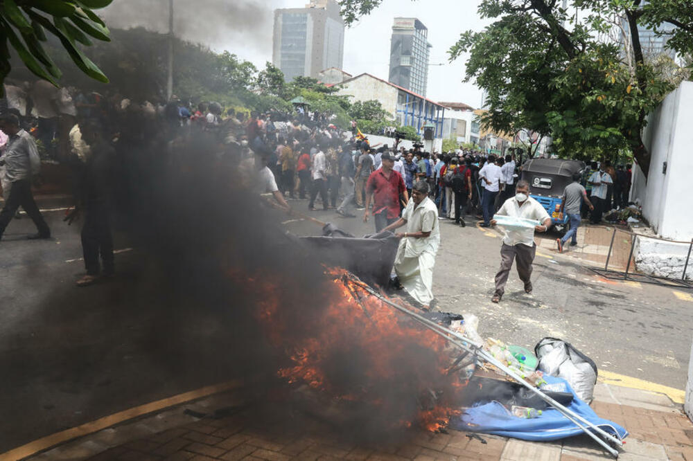
[[[349,131],[340,129],[333,116],[306,108],[224,111],[214,102],[193,107],[177,98],[157,107],[117,95],[103,98],[64,89],[51,94],[58,116],[51,123],[40,119],[37,123],[32,110],[26,106],[22,110],[16,100],[6,98],[0,107],[4,132],[0,132],[0,179],[6,199],[0,237],[20,207],[37,227],[32,238],[51,236],[30,186],[40,168],[39,146],[44,150],[52,146],[58,152],[55,157],[76,172],[77,206],[67,219],[71,222],[85,214],[82,248],[87,273],[78,280],[80,286],[114,273],[114,177],[136,182],[123,168],[148,159],[168,165],[205,160],[230,165],[242,172],[239,177],[248,190],[270,194],[290,213],[299,211],[292,200],[307,199],[300,213],[322,205],[322,210],[334,210],[342,217],[356,217],[357,211],[365,222],[372,217],[376,234],[405,227],[405,232],[395,233],[401,241],[394,284],[427,306],[434,302],[432,274],[440,219],[465,226],[465,217],[471,214],[483,219],[482,227],[495,225],[494,215],[534,219],[541,223],[534,229],[506,232],[493,301],[502,298],[514,261],[525,291],[532,291],[534,232],[545,232],[552,221],[529,197],[529,184],[518,181],[520,152],[495,156],[460,148],[431,153],[416,143],[405,148],[399,139],[392,145],[371,145],[355,123]],[[194,156],[187,148],[191,144],[196,147]],[[160,154],[162,150],[165,154]],[[612,168],[604,162],[593,163],[574,178],[561,206],[573,225],[558,240],[560,251],[568,239],[575,242],[585,208],[593,210],[592,222],[597,223],[612,205],[625,206],[630,174],[630,165]]]

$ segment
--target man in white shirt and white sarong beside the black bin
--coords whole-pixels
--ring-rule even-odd
[[[433,266],[440,244],[438,208],[428,197],[428,183],[419,181],[412,188],[412,199],[402,217],[383,230],[406,225],[394,260],[394,271],[404,289],[416,301],[429,306],[433,301]]]

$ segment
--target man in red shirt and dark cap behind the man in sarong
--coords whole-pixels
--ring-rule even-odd
[[[380,160],[383,162],[383,168],[372,172],[366,184],[366,210],[363,214],[363,222],[368,222],[372,198],[376,232],[394,223],[399,217],[400,194],[403,195],[405,202],[409,201],[402,175],[392,170],[394,156],[384,152]]]

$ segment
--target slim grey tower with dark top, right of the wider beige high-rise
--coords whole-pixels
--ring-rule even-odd
[[[392,26],[389,81],[426,96],[431,44],[419,19],[396,17]]]

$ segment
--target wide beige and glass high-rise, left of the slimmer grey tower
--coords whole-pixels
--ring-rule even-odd
[[[274,11],[272,63],[286,80],[317,78],[344,64],[344,21],[335,0],[312,0],[306,8]]]

